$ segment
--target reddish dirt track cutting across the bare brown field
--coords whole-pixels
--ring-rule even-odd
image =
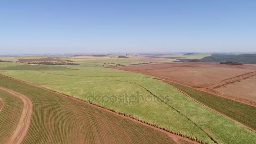
[[[206,88],[218,88],[220,86],[224,86],[224,85],[227,85],[229,83],[234,83],[236,81],[239,81],[239,80],[242,80],[242,79],[246,79],[246,78],[249,78],[249,77],[253,77],[255,75],[256,75],[256,72],[249,72],[249,73],[246,73],[246,74],[243,74],[243,75],[238,75],[236,77],[232,77],[232,78],[226,79],[222,83],[217,83],[215,85],[211,85],[211,86],[208,86],[208,87],[205,87],[205,88],[200,88],[200,89],[205,90]]]

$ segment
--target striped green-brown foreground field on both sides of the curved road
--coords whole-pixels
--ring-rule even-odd
[[[38,143],[168,143],[166,134],[58,94],[0,76],[0,86],[28,96],[33,115],[24,144]],[[19,120],[22,102],[0,91],[6,106],[0,112],[0,141]],[[11,112],[11,115],[10,115]],[[17,116],[15,116],[16,114]],[[15,117],[15,119],[11,118]],[[13,122],[14,120],[14,122]],[[3,135],[4,134],[4,135]],[[2,137],[1,137],[2,136]]]

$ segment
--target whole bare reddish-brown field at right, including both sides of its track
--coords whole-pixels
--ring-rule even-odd
[[[256,104],[256,65],[224,65],[209,62],[176,62],[114,67],[152,75],[231,99]]]

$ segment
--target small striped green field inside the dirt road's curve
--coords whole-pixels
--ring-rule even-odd
[[[3,80],[0,82],[4,83]],[[3,104],[3,107],[0,107],[0,144],[4,144],[19,122],[23,102],[3,90],[0,90],[0,100]]]

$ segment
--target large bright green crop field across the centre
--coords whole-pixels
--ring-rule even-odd
[[[17,67],[20,69],[20,66]],[[91,100],[88,98],[93,91],[95,96],[101,99],[104,96],[120,95],[122,100],[125,99],[123,96],[125,93],[138,97],[137,92],[139,92],[139,97],[142,99],[157,101],[113,102],[101,99],[91,101],[165,128],[172,133],[205,143],[256,142],[256,134],[252,131],[203,107],[152,76],[101,67],[63,66],[63,69],[59,70],[58,68],[55,70],[54,67],[47,70],[38,70],[41,69],[40,66],[35,66],[38,69],[34,66],[30,67],[31,65],[25,65],[24,70],[13,70],[16,68],[5,66],[0,68],[0,73],[83,100]],[[160,95],[167,96],[168,101],[163,102],[158,99]]]

